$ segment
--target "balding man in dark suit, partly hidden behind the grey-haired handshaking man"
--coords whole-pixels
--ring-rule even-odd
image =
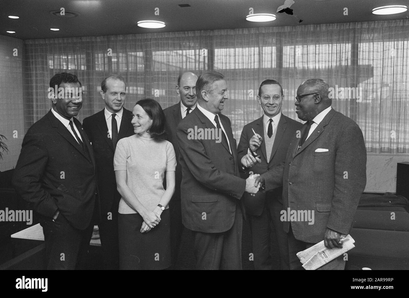
[[[196,97],[197,80],[198,76],[193,72],[184,72],[183,74],[180,74],[178,77],[178,85],[176,85],[176,93],[180,97],[180,102],[163,110],[166,117],[166,140],[173,144],[176,160],[179,160],[176,128],[178,127],[179,122],[196,108],[196,104],[198,102]],[[182,212],[180,209],[180,183],[182,182],[182,169],[180,167],[180,163],[176,164],[175,175],[175,193],[173,194],[169,204],[171,215],[172,266],[175,266],[178,259],[180,238],[183,230]]]

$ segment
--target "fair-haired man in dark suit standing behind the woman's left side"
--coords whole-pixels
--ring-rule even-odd
[[[132,112],[123,107],[126,97],[124,79],[117,74],[106,77],[101,84],[101,97],[105,108],[85,118],[83,127],[92,143],[97,164],[97,219],[104,269],[119,270],[118,205],[121,195],[115,180],[114,152],[118,140],[133,135],[134,131]]]

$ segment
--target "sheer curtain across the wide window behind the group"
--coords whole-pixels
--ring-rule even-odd
[[[84,89],[79,120],[100,111],[101,81],[111,73],[127,83],[125,107],[154,98],[166,108],[181,72],[217,70],[229,99],[223,114],[234,137],[262,115],[256,101],[265,79],[281,83],[282,112],[298,120],[295,95],[310,78],[330,85],[333,108],[351,117],[373,153],[409,153],[409,20],[261,27],[116,36],[26,40],[25,129],[51,107],[49,79],[72,72]]]

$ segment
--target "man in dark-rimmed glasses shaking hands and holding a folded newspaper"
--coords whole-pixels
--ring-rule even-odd
[[[322,240],[328,248],[342,247],[341,236],[352,228],[366,184],[362,131],[331,108],[328,89],[322,79],[308,79],[298,87],[296,113],[307,121],[301,138],[292,140],[285,162],[256,178],[256,185],[265,183],[267,191],[283,185],[290,269],[302,269],[296,253]],[[288,218],[294,213],[299,215]],[[320,269],[344,267],[341,255]]]

